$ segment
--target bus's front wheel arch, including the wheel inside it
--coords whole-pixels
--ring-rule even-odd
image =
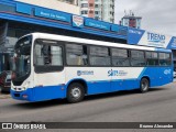
[[[79,102],[87,94],[87,84],[84,80],[73,80],[67,87],[67,101],[70,103]]]

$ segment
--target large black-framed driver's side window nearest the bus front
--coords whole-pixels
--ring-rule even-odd
[[[57,72],[63,69],[63,47],[53,41],[36,41],[34,46],[35,72]]]

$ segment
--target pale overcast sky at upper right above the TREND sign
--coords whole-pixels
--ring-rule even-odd
[[[142,16],[142,29],[176,36],[176,0],[116,0],[116,22],[124,10]]]

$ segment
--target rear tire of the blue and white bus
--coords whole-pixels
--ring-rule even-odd
[[[140,91],[141,92],[147,92],[150,88],[150,81],[146,78],[142,78],[140,82]]]

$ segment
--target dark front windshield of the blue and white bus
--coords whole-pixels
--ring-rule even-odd
[[[14,63],[13,63],[13,81],[23,81],[31,72],[31,45],[32,37],[25,36],[18,41],[14,46]]]

